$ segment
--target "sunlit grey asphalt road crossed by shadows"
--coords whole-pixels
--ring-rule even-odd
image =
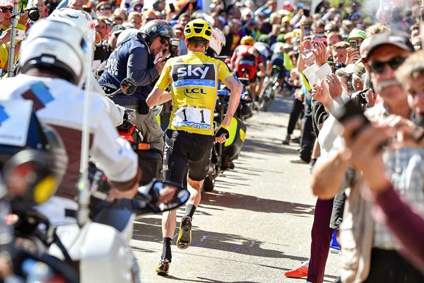
[[[283,276],[309,257],[316,201],[308,166],[289,162],[298,144],[281,144],[290,108],[290,98],[277,97],[268,112],[246,121],[235,169],[218,177],[194,214],[192,246],[179,250],[175,233],[169,276],[154,271],[162,253],[160,215],[135,222],[131,246],[142,282],[306,282]],[[324,282],[336,279],[338,260],[329,254]]]

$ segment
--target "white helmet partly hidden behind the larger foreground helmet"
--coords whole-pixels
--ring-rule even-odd
[[[49,18],[64,18],[71,21],[82,30],[88,42],[94,42],[94,22],[91,20],[90,14],[86,11],[74,10],[73,8],[59,8],[55,9]]]

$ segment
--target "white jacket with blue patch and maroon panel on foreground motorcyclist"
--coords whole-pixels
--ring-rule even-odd
[[[20,74],[0,80],[0,99],[31,99],[40,122],[52,125],[64,141],[69,164],[56,195],[76,197],[81,156],[81,129],[85,92],[62,79]],[[138,170],[138,156],[105,111],[104,97],[90,93],[90,156],[110,180],[126,182]]]

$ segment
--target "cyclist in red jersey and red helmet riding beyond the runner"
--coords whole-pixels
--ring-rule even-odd
[[[232,53],[230,59],[230,66],[235,71],[238,77],[245,78],[246,74],[243,70],[247,71],[249,78],[249,89],[254,101],[254,105],[259,110],[259,103],[257,103],[257,93],[260,93],[260,89],[256,89],[257,84],[255,83],[257,77],[265,75],[265,67],[262,62],[262,56],[259,51],[253,46],[254,39],[250,35],[242,37],[240,40],[241,45],[237,46]],[[259,71],[258,71],[259,69]]]

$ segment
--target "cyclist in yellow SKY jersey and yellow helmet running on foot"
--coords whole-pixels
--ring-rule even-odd
[[[177,238],[180,249],[188,248],[192,241],[192,217],[201,201],[201,187],[211,163],[213,141],[223,143],[229,137],[228,127],[242,91],[242,86],[223,62],[205,55],[213,35],[208,22],[196,19],[187,23],[184,35],[188,54],[167,61],[146,100],[147,105],[153,107],[172,99],[170,124],[165,134],[164,178],[179,184],[187,178],[190,192]],[[230,100],[225,118],[214,137],[213,111],[218,79],[230,89]],[[164,93],[170,84],[172,92]],[[169,273],[176,214],[175,209],[163,214],[163,253],[156,268],[158,275]]]

